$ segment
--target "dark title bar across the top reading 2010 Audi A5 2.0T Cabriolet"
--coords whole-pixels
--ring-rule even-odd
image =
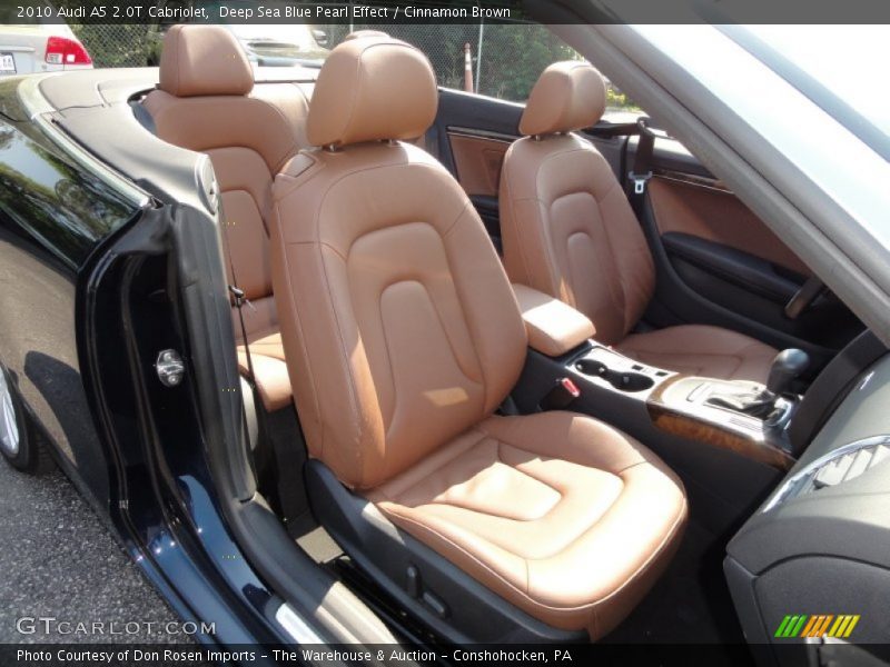
[[[2,23],[890,23],[887,0],[0,0]]]

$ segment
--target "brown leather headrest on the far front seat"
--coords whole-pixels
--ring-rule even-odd
[[[520,120],[525,136],[589,128],[605,111],[605,81],[586,62],[554,62],[538,78]]]

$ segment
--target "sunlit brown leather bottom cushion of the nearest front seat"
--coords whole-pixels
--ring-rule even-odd
[[[491,417],[367,494],[394,524],[544,623],[599,638],[646,593],[683,486],[590,417]]]

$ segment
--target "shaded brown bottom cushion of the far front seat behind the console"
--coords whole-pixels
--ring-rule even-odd
[[[627,336],[614,348],[643,364],[720,380],[767,384],[778,350],[742,334],[682,325]]]

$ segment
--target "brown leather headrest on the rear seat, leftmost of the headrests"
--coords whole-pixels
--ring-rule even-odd
[[[235,36],[219,26],[172,26],[160,54],[160,89],[176,97],[247,94],[254,70]]]

